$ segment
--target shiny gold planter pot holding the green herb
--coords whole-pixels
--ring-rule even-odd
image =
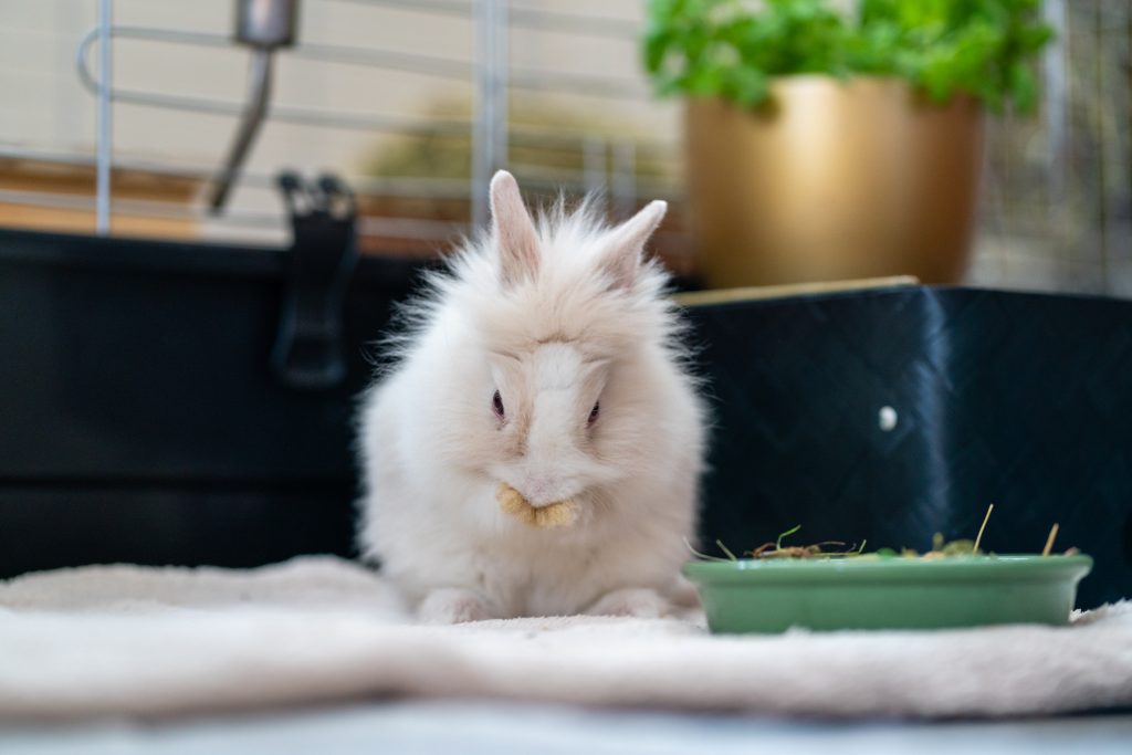
[[[771,102],[687,108],[697,272],[711,288],[914,275],[958,282],[983,149],[977,102],[893,79],[784,77]]]

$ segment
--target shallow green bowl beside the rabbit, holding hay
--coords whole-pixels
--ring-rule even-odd
[[[1066,624],[1088,556],[692,561],[714,633]]]

